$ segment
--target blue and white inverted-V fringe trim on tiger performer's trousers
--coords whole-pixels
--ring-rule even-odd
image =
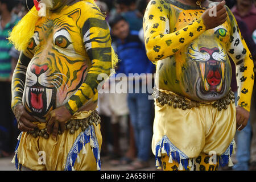
[[[92,143],[90,142],[92,141]],[[75,143],[73,144],[71,150],[69,151],[67,162],[65,164],[65,171],[72,171],[72,168],[75,166],[75,162],[77,160],[77,155],[82,150],[82,147],[85,146],[86,143],[90,143],[92,147],[92,151],[94,154],[94,158],[97,162],[97,169],[101,169],[101,160],[100,160],[100,147],[96,138],[96,134],[93,126],[89,126],[84,132],[80,133],[76,138]]]

